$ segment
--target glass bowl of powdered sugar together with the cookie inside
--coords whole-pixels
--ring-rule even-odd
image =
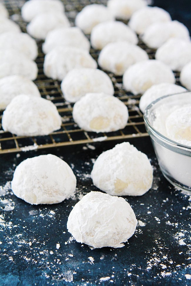
[[[144,121],[163,175],[191,193],[191,92],[153,101]]]

